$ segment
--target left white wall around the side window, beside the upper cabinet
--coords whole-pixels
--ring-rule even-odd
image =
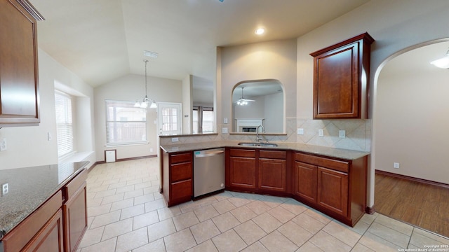
[[[0,129],[0,138],[5,138],[8,150],[0,152],[0,169],[14,169],[20,167],[32,167],[39,165],[51,165],[58,163],[58,146],[56,141],[55,120],[55,80],[64,83],[67,87],[77,90],[83,94],[87,103],[93,104],[93,89],[83,83],[74,73],[69,71],[50,57],[43,50],[39,53],[39,94],[40,94],[40,117],[39,126],[32,127],[4,127]],[[83,106],[79,111],[85,111],[93,116],[93,108]],[[88,122],[90,123],[90,122]],[[52,139],[48,141],[47,134]],[[83,146],[86,151],[93,151],[93,130],[86,130],[84,140],[77,146]],[[91,149],[89,150],[89,144]],[[89,166],[95,162],[95,155],[86,158]]]

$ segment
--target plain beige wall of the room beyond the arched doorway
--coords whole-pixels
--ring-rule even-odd
[[[388,64],[385,68],[388,67]],[[376,169],[449,183],[449,72],[380,73]],[[399,169],[393,163],[400,163]]]

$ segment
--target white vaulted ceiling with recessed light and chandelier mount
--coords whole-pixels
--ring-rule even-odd
[[[145,58],[149,76],[213,81],[217,46],[297,38],[368,1],[30,0],[39,47],[93,87],[144,74]]]

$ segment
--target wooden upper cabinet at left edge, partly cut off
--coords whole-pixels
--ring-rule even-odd
[[[27,0],[0,0],[0,127],[40,123],[36,20]]]

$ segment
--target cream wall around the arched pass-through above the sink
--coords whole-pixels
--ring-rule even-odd
[[[220,83],[221,106],[217,118],[217,127],[223,118],[232,118],[232,90],[237,83],[244,80],[276,79],[279,80],[286,92],[286,116],[296,114],[296,41],[295,39],[283,41],[269,41],[221,48],[220,74],[217,83]],[[234,122],[232,122],[234,123]]]

